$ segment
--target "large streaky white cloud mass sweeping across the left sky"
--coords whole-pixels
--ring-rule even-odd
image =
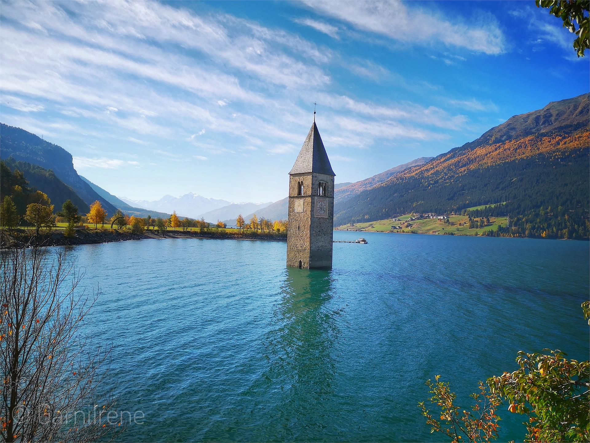
[[[329,93],[328,67],[345,63],[358,76],[407,89],[436,86],[405,80],[369,60],[343,61],[290,32],[227,14],[142,0],[98,6],[25,1],[3,5],[2,14],[8,20],[0,27],[0,90],[31,103],[44,100],[47,110],[99,128],[98,146],[100,137],[131,142],[130,153],[140,149],[132,144],[169,146],[154,151],[169,161],[186,158],[186,141],[211,155],[257,149],[290,155],[311,124],[310,97],[329,108],[324,140],[344,148],[370,148],[377,139],[437,140],[442,135],[433,126],[446,132],[466,122],[434,106]],[[199,138],[205,129],[193,133],[199,127],[207,128],[207,144]],[[80,168],[134,166],[108,158],[119,154],[74,154]]]

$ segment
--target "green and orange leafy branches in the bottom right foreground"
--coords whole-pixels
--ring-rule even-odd
[[[590,302],[582,303],[584,318],[590,318]],[[590,324],[590,320],[588,321]],[[425,407],[418,404],[430,432],[443,432],[453,443],[490,441],[498,437],[496,408],[503,400],[509,403],[508,411],[527,416],[525,422],[527,442],[581,442],[590,439],[589,393],[590,361],[568,360],[559,350],[544,349],[543,353],[527,354],[519,351],[516,358],[519,369],[480,382],[473,413],[455,406],[457,398],[448,383],[428,380],[430,401],[440,410],[440,421]]]

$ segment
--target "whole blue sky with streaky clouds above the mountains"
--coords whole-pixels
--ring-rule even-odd
[[[313,120],[356,181],[588,93],[534,1],[2,2],[1,121],[118,196],[286,196]]]

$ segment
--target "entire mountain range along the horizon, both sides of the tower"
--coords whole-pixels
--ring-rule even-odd
[[[504,234],[587,238],[590,223],[589,95],[551,102],[516,115],[474,141],[437,157],[421,157],[355,183],[335,185],[335,226],[372,222],[411,212],[509,216]],[[116,197],[77,174],[61,146],[5,125],[0,126],[0,158],[19,170],[31,188],[44,191],[57,208],[70,199],[81,212],[101,201],[145,217],[204,217],[235,224],[238,214],[287,218],[288,198],[274,203],[231,203],[188,193],[160,200]],[[7,170],[4,170],[7,171]],[[7,173],[8,174],[8,173]]]

